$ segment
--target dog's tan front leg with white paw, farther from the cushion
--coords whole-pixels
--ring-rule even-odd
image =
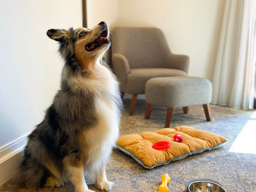
[[[95,192],[88,189],[88,186],[86,185],[82,163],[70,163],[69,158],[64,158],[63,162],[65,166],[65,171],[67,171],[68,178],[74,185],[74,189],[76,192]]]

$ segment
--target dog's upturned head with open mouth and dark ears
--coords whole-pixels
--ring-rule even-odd
[[[73,69],[77,65],[82,69],[94,68],[110,45],[108,27],[103,21],[92,29],[50,29],[47,35],[60,43],[60,54]]]

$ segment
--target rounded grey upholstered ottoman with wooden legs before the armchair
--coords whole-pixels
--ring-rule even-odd
[[[153,105],[167,107],[165,127],[170,126],[173,108],[202,105],[206,120],[211,121],[211,82],[199,77],[157,77],[149,79],[145,85],[147,109],[144,119],[150,117]]]

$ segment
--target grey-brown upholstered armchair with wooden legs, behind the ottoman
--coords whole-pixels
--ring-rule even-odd
[[[112,31],[112,65],[120,91],[136,97],[154,77],[187,76],[189,57],[171,53],[164,33],[157,28],[115,27]]]

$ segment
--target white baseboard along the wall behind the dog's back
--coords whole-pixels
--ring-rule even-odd
[[[0,148],[0,186],[15,175],[29,133]]]

